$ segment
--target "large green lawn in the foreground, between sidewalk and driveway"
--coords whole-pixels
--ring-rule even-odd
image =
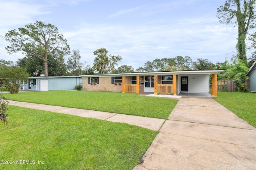
[[[8,125],[0,122],[0,160],[14,164],[0,164],[0,169],[132,170],[158,133],[16,106],[8,112]]]

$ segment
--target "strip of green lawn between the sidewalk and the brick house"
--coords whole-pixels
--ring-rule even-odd
[[[3,94],[8,100],[167,119],[178,100],[131,93],[55,90]]]

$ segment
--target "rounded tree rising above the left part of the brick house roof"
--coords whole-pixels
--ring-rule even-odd
[[[114,68],[118,66],[117,63],[122,60],[122,57],[119,55],[108,55],[108,51],[105,48],[98,49],[93,54],[96,55],[93,67],[99,74],[114,72]]]

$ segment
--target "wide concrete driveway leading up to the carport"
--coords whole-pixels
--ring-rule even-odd
[[[182,97],[134,170],[256,170],[256,128],[212,98]]]

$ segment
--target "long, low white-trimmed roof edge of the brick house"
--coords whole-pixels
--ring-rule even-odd
[[[109,77],[109,76],[147,76],[147,75],[169,75],[169,74],[215,74],[224,70],[182,70],[182,71],[161,71],[161,72],[130,72],[130,73],[114,73],[114,74],[90,74],[79,75],[81,77]]]

